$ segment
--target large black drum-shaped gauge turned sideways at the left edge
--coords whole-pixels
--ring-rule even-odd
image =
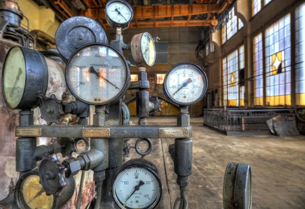
[[[10,109],[34,109],[37,94],[45,94],[48,68],[44,56],[33,49],[12,47],[5,58],[2,72],[2,93]]]

